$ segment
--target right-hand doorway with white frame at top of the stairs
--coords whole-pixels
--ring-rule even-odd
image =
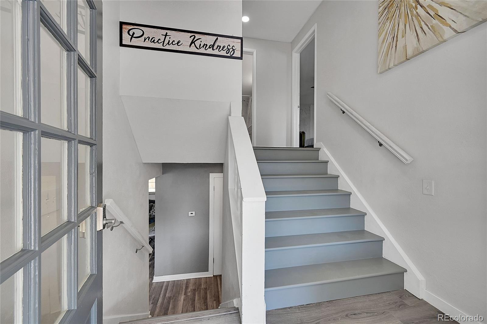
[[[293,50],[292,145],[316,143],[316,24]]]

